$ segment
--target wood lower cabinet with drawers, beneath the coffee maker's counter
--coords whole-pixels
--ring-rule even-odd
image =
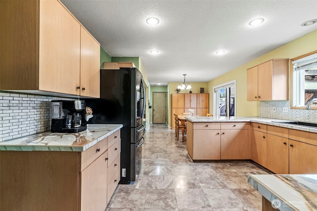
[[[120,146],[117,130],[83,152],[0,151],[0,210],[104,211],[120,180]]]

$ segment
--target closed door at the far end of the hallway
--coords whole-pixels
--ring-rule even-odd
[[[153,92],[153,124],[166,124],[167,92]]]

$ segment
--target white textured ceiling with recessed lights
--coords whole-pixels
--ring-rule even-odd
[[[181,82],[183,74],[208,82],[317,30],[301,26],[317,18],[317,0],[61,1],[110,56],[140,57],[151,85]],[[159,24],[148,25],[148,17]],[[263,24],[248,25],[258,17]]]

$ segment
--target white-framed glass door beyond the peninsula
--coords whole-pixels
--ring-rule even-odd
[[[236,80],[213,87],[213,114],[234,117],[236,114]]]

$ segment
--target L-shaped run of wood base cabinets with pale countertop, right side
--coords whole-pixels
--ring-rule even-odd
[[[259,117],[186,119],[193,161],[252,160],[274,173],[317,173],[317,127]]]

